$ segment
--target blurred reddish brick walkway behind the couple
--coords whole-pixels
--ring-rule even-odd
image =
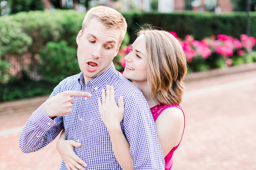
[[[255,69],[187,82],[181,104],[186,127],[172,169],[255,170],[255,96]],[[22,126],[46,98],[0,104],[1,170],[56,170],[60,166],[56,140],[31,154],[22,153],[18,145]]]

